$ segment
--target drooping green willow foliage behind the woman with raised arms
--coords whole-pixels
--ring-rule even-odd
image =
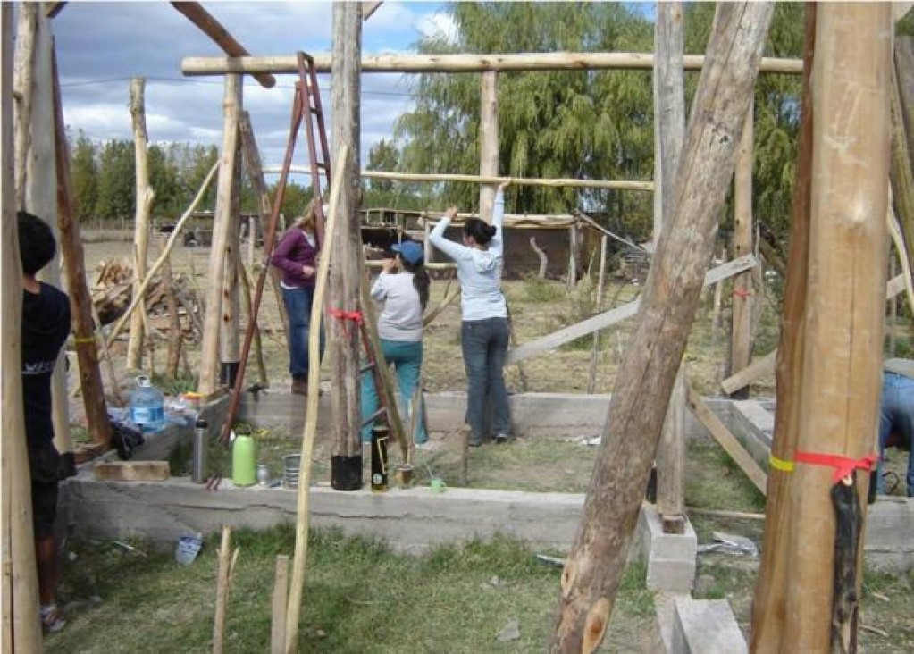
[[[455,3],[457,35],[426,37],[422,53],[640,50],[653,43],[651,24],[617,3]],[[469,173],[478,168],[478,76],[429,73],[415,78],[415,110],[403,115],[410,171]],[[649,179],[653,118],[650,75],[636,71],[500,73],[499,161],[502,174],[524,177]],[[475,188],[445,185],[441,199],[474,206]],[[516,186],[526,211],[568,210],[585,201],[571,189]],[[611,204],[590,195],[589,204]],[[645,211],[649,203],[644,205]],[[649,216],[649,214],[648,214]],[[647,217],[647,216],[644,216]]]

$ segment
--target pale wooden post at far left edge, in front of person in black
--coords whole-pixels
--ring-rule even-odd
[[[25,7],[19,6],[21,12]],[[0,5],[0,148],[3,160],[14,157],[13,145],[13,9]],[[21,16],[21,15],[20,15]],[[13,166],[0,168],[0,185],[14,185]],[[0,377],[3,378],[3,411],[0,412],[4,438],[0,438],[0,459],[4,474],[0,522],[0,559],[3,589],[0,594],[4,649],[11,652],[41,651],[41,622],[38,616],[38,587],[35,570],[35,538],[32,532],[31,483],[28,475],[26,423],[22,406],[22,265],[16,236],[16,195],[0,193]],[[13,607],[16,607],[14,610]]]

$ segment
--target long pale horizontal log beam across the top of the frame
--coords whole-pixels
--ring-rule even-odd
[[[686,70],[700,70],[704,55],[686,55]],[[314,55],[317,72],[331,69],[329,54]],[[653,70],[653,52],[515,52],[505,55],[365,55],[365,73],[478,73],[484,71],[530,72],[535,70]],[[295,57],[186,57],[181,60],[185,75],[225,73],[296,73]],[[761,72],[799,75],[802,59],[764,57]]]

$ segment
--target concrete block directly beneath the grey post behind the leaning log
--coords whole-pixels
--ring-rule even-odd
[[[644,503],[638,518],[641,554],[647,564],[647,587],[667,593],[689,593],[695,582],[698,538],[686,520],[685,533],[664,533],[653,504]]]

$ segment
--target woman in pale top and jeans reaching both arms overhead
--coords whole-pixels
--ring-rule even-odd
[[[505,296],[502,294],[502,266],[505,250],[502,223],[505,219],[505,182],[495,193],[492,224],[468,218],[462,243],[444,237],[444,230],[457,216],[452,206],[431,230],[432,245],[457,264],[461,283],[461,347],[467,376],[465,422],[472,429],[470,445],[478,448],[486,437],[486,405],[491,410],[495,443],[511,436],[511,414],[505,387],[505,357],[510,329]]]

